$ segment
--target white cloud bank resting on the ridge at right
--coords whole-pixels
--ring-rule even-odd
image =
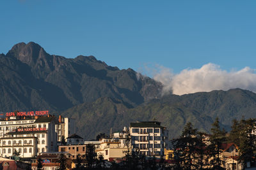
[[[182,95],[235,88],[256,92],[256,73],[250,67],[228,72],[209,63],[200,69],[184,69],[179,74],[173,74],[170,69],[160,66],[154,80],[163,83],[163,94],[172,91],[173,94]]]

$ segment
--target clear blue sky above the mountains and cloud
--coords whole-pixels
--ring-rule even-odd
[[[0,2],[0,53],[35,41],[50,54],[94,55],[120,69],[174,73],[209,62],[255,68],[256,1]]]

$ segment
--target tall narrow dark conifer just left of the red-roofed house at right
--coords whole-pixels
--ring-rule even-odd
[[[211,136],[209,138],[210,145],[207,147],[209,157],[211,157],[212,169],[222,169],[223,160],[221,159],[221,144],[226,141],[226,132],[224,129],[220,129],[220,121],[217,117],[212,124]]]

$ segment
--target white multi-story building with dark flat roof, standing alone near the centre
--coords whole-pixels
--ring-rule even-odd
[[[164,148],[168,147],[168,131],[160,122],[133,122],[129,131],[133,150],[148,156],[164,156]]]

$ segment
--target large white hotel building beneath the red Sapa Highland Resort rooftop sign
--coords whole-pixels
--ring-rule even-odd
[[[56,152],[61,139],[75,130],[74,120],[68,118],[6,117],[0,120],[0,157],[12,157],[15,150],[23,158]]]

